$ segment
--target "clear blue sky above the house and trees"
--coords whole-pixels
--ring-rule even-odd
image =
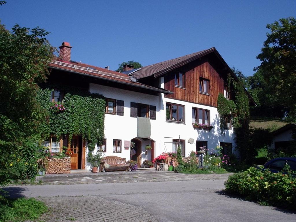
[[[268,29],[296,17],[296,1],[31,1],[6,0],[1,23],[40,26],[58,47],[70,42],[72,60],[143,66],[215,47],[227,64],[253,75]]]

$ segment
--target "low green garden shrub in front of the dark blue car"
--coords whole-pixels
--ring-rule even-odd
[[[238,194],[261,205],[296,209],[296,178],[288,174],[271,173],[251,167],[245,172],[229,176],[225,181],[226,192]],[[295,176],[295,174],[294,174]]]

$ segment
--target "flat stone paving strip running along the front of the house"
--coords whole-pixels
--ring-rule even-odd
[[[124,173],[124,174],[100,174],[85,175],[71,178],[57,179],[52,178],[51,181],[44,180],[42,184],[101,184],[101,183],[134,183],[134,182],[160,182],[160,181],[188,181],[188,180],[213,180],[213,179],[227,179],[229,175],[225,174],[183,174],[166,172],[160,173]],[[42,179],[41,179],[42,180]]]

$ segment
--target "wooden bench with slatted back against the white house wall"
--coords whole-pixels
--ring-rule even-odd
[[[116,156],[107,156],[102,158],[102,162],[100,164],[99,172],[106,172],[106,171],[119,171],[125,170],[130,171],[129,163],[126,162],[125,158],[116,157]]]

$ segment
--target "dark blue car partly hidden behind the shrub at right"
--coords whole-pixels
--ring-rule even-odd
[[[278,173],[284,168],[286,164],[290,166],[291,170],[296,171],[296,157],[275,158],[273,160],[269,160],[263,166],[273,173]]]

